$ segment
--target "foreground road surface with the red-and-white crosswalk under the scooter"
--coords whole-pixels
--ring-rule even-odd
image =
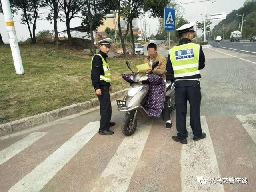
[[[139,119],[125,137],[113,101],[112,136],[98,134],[94,108],[0,137],[1,192],[255,191],[256,56],[212,47],[204,53],[206,139],[192,140],[189,105],[187,145],[172,140],[175,112],[170,130],[161,118]]]

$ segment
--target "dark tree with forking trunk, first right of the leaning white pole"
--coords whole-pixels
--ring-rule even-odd
[[[46,6],[45,2],[42,0],[12,0],[12,4],[22,10],[21,23],[28,26],[31,42],[36,43],[36,21],[39,18],[39,9]],[[29,24],[33,24],[32,32]]]

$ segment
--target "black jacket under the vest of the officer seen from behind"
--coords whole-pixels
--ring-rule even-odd
[[[191,43],[190,39],[187,38],[183,38],[180,40],[179,45],[183,45],[183,44],[187,44],[187,43]],[[202,46],[200,45],[200,50],[199,50],[199,70],[203,69],[205,67],[205,57],[204,57],[204,52],[202,49]],[[167,64],[166,64],[166,69],[167,69],[167,73],[168,74],[174,74],[173,68],[172,68],[172,62],[170,60],[170,54],[168,55],[167,58]],[[201,74],[196,74],[196,75],[192,75],[192,76],[187,76],[187,77],[179,77],[177,79],[200,79],[201,78]],[[175,86],[194,86],[194,85],[198,85],[198,81],[176,81],[175,82]],[[200,82],[199,82],[200,85]]]

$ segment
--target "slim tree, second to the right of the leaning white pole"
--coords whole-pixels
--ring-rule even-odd
[[[58,14],[61,9],[61,4],[63,3],[63,0],[46,0],[46,4],[50,7],[50,13],[47,17],[47,20],[50,20],[54,22],[54,34],[55,34],[55,42],[56,46],[59,49],[60,48],[60,41],[59,41],[59,36],[58,36],[58,24],[57,24],[57,19],[58,19]]]

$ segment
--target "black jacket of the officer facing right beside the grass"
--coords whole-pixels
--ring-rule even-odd
[[[99,54],[101,54],[104,60],[107,62],[108,55],[102,51],[99,51]],[[100,89],[100,86],[110,87],[111,86],[110,83],[100,80],[100,75],[105,75],[103,70],[103,62],[100,56],[95,55],[92,60],[92,71],[91,71],[92,86],[94,86],[94,89]]]

